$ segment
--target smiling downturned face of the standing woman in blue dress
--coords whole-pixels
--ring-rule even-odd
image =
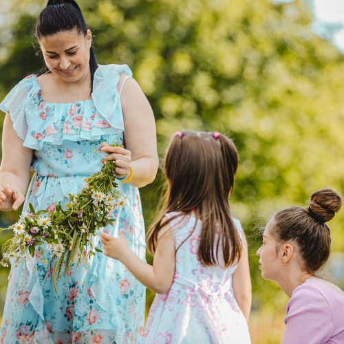
[[[86,36],[76,30],[57,32],[41,37],[39,43],[47,68],[58,78],[74,83],[89,73],[91,31]]]

